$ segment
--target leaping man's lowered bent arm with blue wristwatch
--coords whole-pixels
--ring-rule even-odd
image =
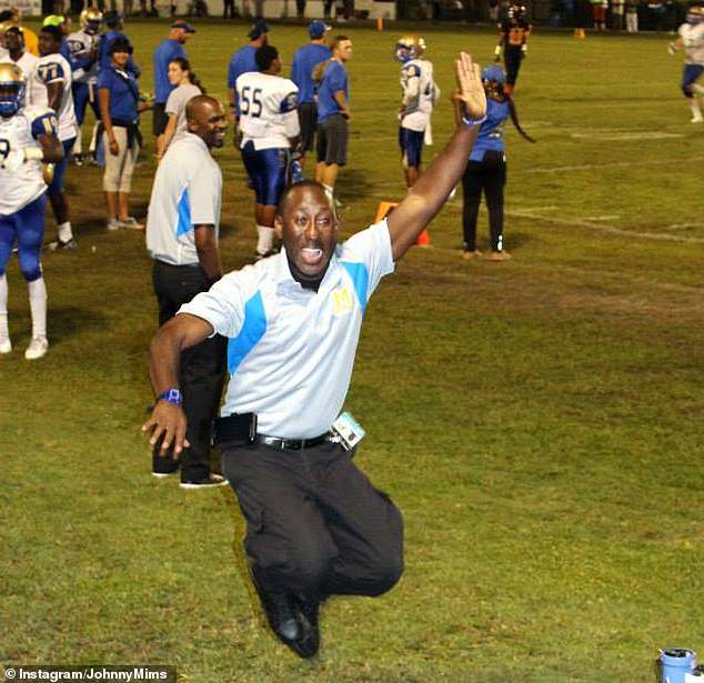
[[[190,313],[179,313],[164,323],[151,341],[149,349],[149,374],[157,395],[151,418],[142,425],[143,432],[151,431],[149,442],[153,445],[163,436],[161,452],[165,454],[173,443],[173,454],[178,456],[190,444],[185,440],[185,414],[179,403],[162,398],[170,389],[179,389],[181,352],[200,344],[213,333],[209,322]]]

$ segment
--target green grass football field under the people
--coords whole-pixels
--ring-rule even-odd
[[[190,57],[224,98],[245,28],[199,27]],[[128,27],[145,87],[165,30]],[[403,188],[398,33],[344,32],[351,234]],[[453,56],[487,63],[495,37],[424,36],[443,89],[430,160],[451,131]],[[514,260],[459,258],[457,197],[433,247],[375,294],[348,408],[369,432],[360,465],[404,512],[406,572],[382,599],[330,601],[313,662],[262,626],[232,492],[149,474],[150,261],[141,234],[105,232],[99,172],[70,169],[80,249],[44,257],[51,349],[38,362],[22,358],[27,288],[9,269],[0,663],[172,664],[189,683],[634,683],[654,680],[658,647],[704,651],[704,127],[688,122],[667,40],[539,31],[516,92],[539,143],[506,132]],[[295,27],[271,36],[288,63],[303,41]],[[230,143],[219,159],[237,269],[254,248],[251,195]]]

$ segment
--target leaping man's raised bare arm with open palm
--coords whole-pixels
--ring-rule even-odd
[[[486,115],[482,72],[466,52],[455,60],[455,77],[454,97],[462,111],[457,130],[388,219],[394,261],[411,248],[462,178],[479,125]]]

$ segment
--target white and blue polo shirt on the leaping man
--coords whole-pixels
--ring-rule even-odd
[[[338,245],[318,292],[293,279],[281,252],[181,307],[229,338],[221,414],[255,413],[258,431],[281,439],[326,432],[350,386],[366,303],[393,269],[383,220]]]

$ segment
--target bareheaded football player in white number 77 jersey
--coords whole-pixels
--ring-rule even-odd
[[[32,77],[33,86],[39,83],[43,88],[38,90],[41,99],[34,104],[53,109],[59,121],[59,140],[63,145],[63,159],[57,164],[53,180],[47,190],[49,202],[59,225],[59,235],[48,247],[51,250],[74,249],[76,240],[69,219],[69,204],[63,193],[63,174],[68,155],[76,141],[76,112],[73,96],[71,94],[72,71],[69,62],[60,54],[63,33],[59,27],[43,27],[39,34],[39,52],[41,57]]]

